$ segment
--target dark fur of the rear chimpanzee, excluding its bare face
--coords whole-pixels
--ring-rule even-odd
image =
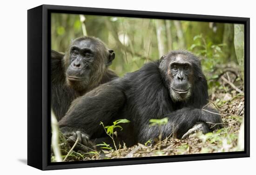
[[[86,75],[89,81],[73,81],[73,83],[67,79],[67,69],[70,68],[72,63],[70,59],[70,48],[66,54],[61,54],[54,50],[51,51],[51,107],[58,120],[67,113],[74,99],[100,84],[118,77],[112,70],[108,69],[108,66],[111,65],[112,60],[115,58],[115,53],[113,50],[108,50],[100,39],[81,37],[75,39],[70,47],[73,45],[78,45],[81,48],[88,47],[89,45],[90,49],[94,49],[94,55],[90,61],[92,63],[88,66],[89,69],[88,67],[85,70],[72,69],[74,70],[73,72],[78,72],[77,70],[80,72],[81,70],[83,72],[90,70],[90,74]],[[109,55],[112,56],[111,59],[109,59]]]

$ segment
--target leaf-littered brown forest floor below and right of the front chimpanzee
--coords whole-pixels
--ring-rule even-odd
[[[126,147],[125,144],[117,145],[120,148],[118,150],[100,150],[88,153],[71,151],[67,156],[69,150],[62,149],[63,158],[67,156],[66,161],[77,161],[241,150],[243,149],[243,137],[239,136],[239,132],[243,133],[240,126],[244,117],[244,94],[240,89],[243,90],[243,83],[241,81],[231,82],[228,78],[225,80],[222,78],[221,85],[213,88],[212,92],[214,93],[210,95],[209,105],[218,110],[222,116],[224,128],[220,130],[207,134],[197,132],[183,140],[165,138],[154,145],[150,143],[137,144],[133,147]],[[54,156],[52,156],[52,160],[54,160]]]

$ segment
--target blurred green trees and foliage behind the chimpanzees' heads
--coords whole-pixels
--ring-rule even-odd
[[[243,72],[243,25],[61,13],[52,14],[51,25],[53,50],[66,52],[72,39],[84,35],[100,38],[115,51],[110,68],[120,76],[182,49],[202,58],[208,78],[228,63],[240,63]]]

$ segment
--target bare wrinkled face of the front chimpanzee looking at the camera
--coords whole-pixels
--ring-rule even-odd
[[[168,68],[170,95],[173,101],[186,101],[192,92],[192,64],[182,55],[171,59]]]

